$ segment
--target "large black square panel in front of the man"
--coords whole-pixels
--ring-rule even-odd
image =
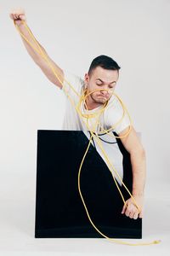
[[[123,182],[131,190],[130,156],[121,140],[116,140],[123,154]],[[103,237],[89,222],[78,192],[78,169],[87,146],[88,138],[82,131],[37,131],[35,237]],[[90,217],[106,236],[142,237],[142,219],[121,214],[122,198],[93,145],[82,166],[81,190]],[[125,189],[122,193],[129,198]]]

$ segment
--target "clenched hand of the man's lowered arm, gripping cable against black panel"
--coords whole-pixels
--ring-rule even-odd
[[[133,199],[129,198],[122,207],[122,214],[125,213],[127,217],[134,219],[137,219],[138,217],[143,218],[144,196],[133,196],[133,198],[136,201],[140,212],[134,204]]]

